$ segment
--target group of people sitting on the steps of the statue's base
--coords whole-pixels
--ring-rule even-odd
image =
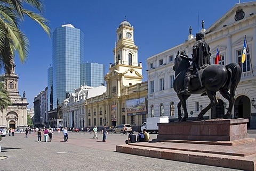
[[[130,134],[128,135],[128,140],[125,140],[125,143],[129,144],[129,143],[135,143],[135,142],[148,142],[149,139],[150,139],[150,135],[146,129],[144,129],[143,131],[139,130],[137,139],[133,131],[130,131]]]

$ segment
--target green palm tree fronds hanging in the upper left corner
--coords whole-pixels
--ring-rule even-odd
[[[24,6],[33,7],[38,10],[39,14],[25,9]],[[19,25],[24,21],[25,16],[41,25],[47,35],[51,37],[51,29],[47,25],[49,22],[40,15],[43,10],[42,0],[0,1],[0,70],[10,74],[15,52],[19,54],[22,63],[28,57],[29,40],[19,29]],[[2,84],[0,84],[0,108],[5,106],[5,103],[2,103],[5,98],[2,98],[1,93],[6,94]]]

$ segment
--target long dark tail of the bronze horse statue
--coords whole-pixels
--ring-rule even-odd
[[[230,94],[231,94],[231,97],[234,98],[237,85],[241,80],[241,75],[242,75],[241,67],[237,63],[230,63],[226,65],[226,69],[229,71],[231,76]]]

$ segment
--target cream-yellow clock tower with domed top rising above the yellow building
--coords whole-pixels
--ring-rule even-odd
[[[114,63],[105,76],[107,96],[122,96],[123,88],[141,83],[142,63],[138,62],[138,46],[134,44],[134,28],[124,20],[116,30],[117,43],[114,48]]]

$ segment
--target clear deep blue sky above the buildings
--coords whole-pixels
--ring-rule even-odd
[[[249,2],[241,0],[240,3]],[[147,80],[146,59],[184,42],[198,32],[201,21],[209,28],[238,0],[45,0],[43,16],[50,21],[52,32],[63,24],[73,24],[84,32],[84,60],[105,64],[114,63],[116,29],[129,21],[134,27],[135,45],[139,47],[138,60],[142,62]],[[19,92],[26,91],[28,108],[33,108],[34,97],[47,87],[47,69],[52,65],[52,39],[34,21],[26,19],[21,25],[30,41],[29,57],[21,64],[15,57],[19,75]]]

